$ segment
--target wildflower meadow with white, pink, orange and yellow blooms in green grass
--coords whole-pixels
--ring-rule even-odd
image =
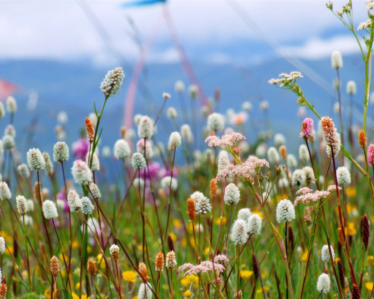
[[[217,90],[199,110],[199,87],[176,81],[177,96],[165,90],[157,111],[103,144],[105,105],[127,80],[117,67],[95,83],[102,100],[80,119],[82,138],[64,141],[80,128],[60,112],[56,142],[16,159],[17,102],[0,102],[0,298],[373,298],[374,1],[359,24],[351,1],[326,6],[356,38],[362,77],[343,85],[342,55],[331,54],[333,117],[304,95],[301,72],[269,78],[275,98],[283,89],[310,115],[292,140],[249,134],[250,101],[223,114]],[[354,99],[363,102],[358,121]],[[272,106],[260,108],[266,118]],[[172,125],[158,127],[162,118]]]

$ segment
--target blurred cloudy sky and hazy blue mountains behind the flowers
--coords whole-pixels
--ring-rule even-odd
[[[333,3],[335,11],[344,1]],[[171,98],[158,131],[159,139],[167,139],[175,130],[166,117],[168,107],[177,109],[177,122],[183,124],[175,92],[181,80],[187,111],[193,105],[199,111],[199,128],[206,121],[204,105],[219,90],[219,101],[212,101],[228,121],[242,111],[243,102],[252,104],[245,123],[231,121],[233,127],[240,125],[248,136],[264,130],[283,133],[297,141],[287,144],[296,151],[301,118],[314,115],[300,110],[293,94],[267,81],[301,71],[306,98],[321,115],[338,121],[336,71],[330,62],[334,50],[343,54],[343,104],[349,101],[346,83],[355,80],[354,116],[361,119],[364,63],[359,47],[324,1],[1,1],[0,8],[0,99],[13,95],[18,102],[14,123],[21,152],[30,147],[50,152],[58,125],[69,145],[76,141],[93,102],[102,105],[102,78],[117,66],[126,78],[120,94],[107,102],[101,147],[113,148],[120,127],[134,126],[135,114],[155,118],[163,92]],[[353,1],[353,11],[357,27],[367,19],[365,2]],[[194,104],[188,96],[191,84],[199,86]],[[269,104],[266,111],[262,101]],[[58,120],[61,111],[66,114]],[[371,125],[372,105],[369,115]],[[0,126],[9,123],[8,117]],[[198,147],[206,148],[201,141]]]

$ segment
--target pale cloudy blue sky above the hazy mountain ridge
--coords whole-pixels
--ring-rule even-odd
[[[141,44],[152,37],[148,62],[178,61],[163,6],[123,9],[124,2],[1,1],[0,59],[110,65],[114,52],[136,61],[140,52],[131,19]],[[333,3],[337,10],[344,1]],[[353,1],[356,27],[367,19],[364,8],[364,1]],[[168,0],[166,9],[191,61],[241,64],[276,55],[320,59],[334,50],[358,52],[352,33],[325,1]]]

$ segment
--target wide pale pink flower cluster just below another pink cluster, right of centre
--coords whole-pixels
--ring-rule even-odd
[[[221,178],[226,178],[227,176],[232,177],[234,175],[241,176],[242,178],[249,178],[256,170],[263,166],[269,167],[269,162],[267,162],[265,159],[249,156],[249,158],[242,164],[227,165],[224,169],[217,173],[215,179],[220,181]]]

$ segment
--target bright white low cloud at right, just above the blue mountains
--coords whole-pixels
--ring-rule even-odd
[[[331,56],[335,50],[340,51],[343,55],[360,52],[355,37],[336,36],[328,40],[321,38],[311,38],[299,47],[282,47],[278,51],[284,56],[295,56],[305,59],[320,59]]]

